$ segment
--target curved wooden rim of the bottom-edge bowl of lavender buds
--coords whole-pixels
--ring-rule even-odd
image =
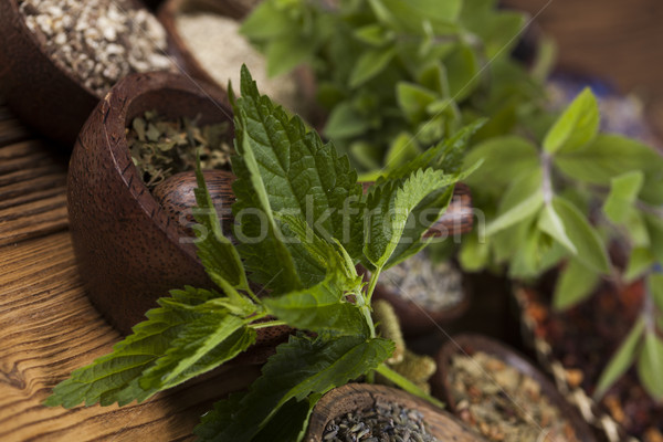
[[[403,390],[375,383],[347,383],[343,387],[335,388],[323,396],[316,403],[311,415],[305,441],[322,441],[325,428],[332,419],[339,418],[357,409],[372,407],[378,399],[398,403],[404,408],[417,409],[423,414],[424,420],[430,420],[431,417],[434,417],[436,420],[444,423],[457,425],[463,432],[472,438],[471,440],[485,441],[478,433],[474,432],[453,414]],[[319,412],[322,408],[327,407],[329,407],[333,412],[327,412],[330,410],[324,410],[326,411],[325,413]]]

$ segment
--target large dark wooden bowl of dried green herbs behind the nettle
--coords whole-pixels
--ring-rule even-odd
[[[76,140],[67,193],[74,251],[90,299],[123,334],[169,290],[213,287],[194,245],[180,241],[190,235],[139,177],[125,128],[151,109],[172,118],[201,115],[202,124],[231,120],[224,101],[185,76],[130,75],[97,105]],[[287,327],[261,329],[254,354],[262,351],[264,359],[288,333]]]

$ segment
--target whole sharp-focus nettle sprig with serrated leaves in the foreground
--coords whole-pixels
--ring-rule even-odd
[[[241,92],[236,99],[231,92],[236,248],[221,232],[198,169],[198,255],[218,288],[187,286],[160,298],[133,335],[75,370],[46,404],[144,401],[232,360],[259,329],[283,324],[315,337],[298,334],[280,345],[249,391],[203,417],[196,430],[201,440],[301,440],[322,394],[373,372],[435,402],[385,364],[394,346],[376,334],[371,295],[383,269],[425,245],[423,233],[453,185],[474,169],[446,173],[441,167],[460,168],[459,151],[475,128],[394,170],[365,196],[347,157],[260,96],[245,67]],[[358,263],[372,271],[368,284]],[[250,280],[270,295],[259,298]]]

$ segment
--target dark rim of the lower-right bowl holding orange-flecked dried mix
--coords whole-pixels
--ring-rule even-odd
[[[594,434],[587,422],[585,422],[580,414],[566,401],[566,399],[564,399],[557,388],[541,371],[534,367],[516,350],[497,340],[481,335],[459,335],[452,337],[444,346],[442,346],[435,358],[438,371],[431,379],[433,394],[443,400],[452,412],[457,412],[457,404],[451,391],[449,380],[451,359],[454,355],[466,354],[471,356],[476,351],[483,351],[496,357],[506,365],[514,367],[520,373],[534,379],[540,385],[543,393],[560,410],[561,414],[571,424],[578,440],[583,442],[596,441]]]

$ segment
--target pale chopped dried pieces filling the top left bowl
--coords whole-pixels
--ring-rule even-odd
[[[97,96],[127,74],[172,69],[166,31],[129,0],[19,0],[53,62]]]

